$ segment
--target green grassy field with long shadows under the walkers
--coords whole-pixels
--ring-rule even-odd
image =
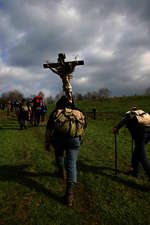
[[[138,179],[130,168],[131,137],[117,137],[118,175],[114,173],[113,126],[137,105],[150,112],[150,97],[77,102],[83,111],[96,107],[78,158],[78,184],[72,209],[63,204],[65,184],[55,176],[54,152],[44,150],[45,126],[19,130],[15,114],[0,112],[0,225],[148,225],[150,181],[143,168]],[[49,111],[54,106],[49,107]],[[150,161],[150,144],[147,145]]]

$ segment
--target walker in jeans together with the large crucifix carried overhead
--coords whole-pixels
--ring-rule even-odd
[[[60,76],[64,92],[47,122],[45,147],[49,150],[50,146],[53,146],[58,175],[62,178],[64,177],[64,151],[66,152],[67,184],[64,197],[67,205],[72,207],[73,187],[77,182],[76,163],[83,132],[86,128],[86,118],[74,105],[70,79],[75,66],[83,65],[84,61],[65,62],[65,58],[65,54],[59,53],[57,63],[43,64],[44,68],[49,68]]]

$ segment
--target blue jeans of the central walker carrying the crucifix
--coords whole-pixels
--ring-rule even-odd
[[[79,137],[57,137],[54,140],[57,166],[64,165],[64,151],[66,150],[67,183],[77,182],[77,158],[80,149]]]

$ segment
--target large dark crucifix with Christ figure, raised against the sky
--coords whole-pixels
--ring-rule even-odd
[[[43,64],[44,68],[49,68],[52,72],[60,76],[63,83],[64,94],[68,97],[69,101],[72,102],[72,87],[70,84],[71,74],[75,67],[78,65],[84,65],[84,61],[68,61],[65,62],[65,54],[59,53],[57,63],[46,63]]]

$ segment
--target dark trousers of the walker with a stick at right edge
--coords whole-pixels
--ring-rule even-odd
[[[144,133],[142,137],[135,139],[135,149],[132,155],[133,171],[136,175],[139,173],[140,163],[146,174],[150,178],[150,164],[146,159],[145,145],[150,140],[150,133]]]

